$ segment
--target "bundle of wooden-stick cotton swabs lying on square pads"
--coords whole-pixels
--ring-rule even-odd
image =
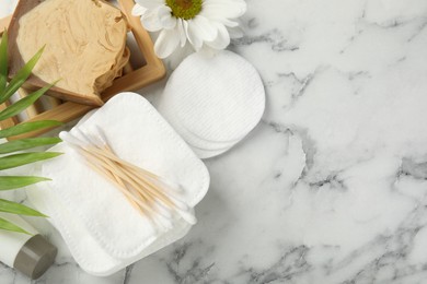
[[[76,134],[61,132],[59,137],[76,149],[91,168],[114,184],[142,215],[164,229],[172,227],[173,213],[191,224],[196,223],[178,185],[118,157],[101,128],[74,131]]]

